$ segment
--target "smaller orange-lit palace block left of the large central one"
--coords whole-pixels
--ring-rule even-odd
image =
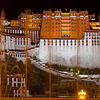
[[[25,28],[28,20],[28,28],[41,28],[42,14],[33,14],[31,11],[26,10],[26,13],[21,13],[18,16],[20,20],[20,28]]]

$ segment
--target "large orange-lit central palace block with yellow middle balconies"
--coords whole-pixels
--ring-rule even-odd
[[[82,38],[89,29],[88,11],[43,11],[41,38]]]

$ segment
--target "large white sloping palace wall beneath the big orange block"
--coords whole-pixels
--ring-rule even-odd
[[[79,42],[78,42],[79,41]],[[79,43],[79,46],[78,46]],[[99,33],[84,33],[84,39],[40,39],[39,49],[33,52],[44,63],[49,62],[49,48],[51,46],[51,63],[68,67],[79,66],[85,68],[100,67]],[[78,52],[77,52],[78,48]]]

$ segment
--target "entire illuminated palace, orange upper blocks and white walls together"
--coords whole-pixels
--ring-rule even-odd
[[[79,56],[81,58],[79,66],[85,67],[88,65],[88,67],[97,67],[99,65],[99,61],[95,61],[94,59],[95,57],[99,58],[99,55],[96,54],[99,53],[99,48],[97,48],[98,52],[95,54],[92,53],[93,50],[95,51],[94,46],[98,47],[100,45],[99,30],[87,30],[90,28],[89,25],[93,23],[89,21],[93,21],[95,19],[95,15],[89,15],[88,11],[70,11],[66,13],[63,13],[62,11],[43,11],[43,15],[33,14],[30,13],[30,11],[26,11],[26,13],[21,13],[19,15],[20,28],[5,28],[4,40],[5,44],[7,44],[7,50],[25,50],[25,26],[28,19],[32,20],[32,26],[38,24],[40,21],[40,24],[37,25],[39,28],[29,27],[28,29],[29,48],[31,49],[34,46],[39,46],[39,51],[33,50],[34,53],[32,52],[33,54],[31,54],[30,52],[30,56],[34,55],[41,59],[44,63],[47,63],[49,61],[47,56],[49,54],[48,46],[51,44],[52,47],[54,47],[51,48],[51,62],[53,64],[57,63],[64,64],[69,67],[75,67],[77,64],[77,45],[79,44]],[[80,38],[79,40],[77,40],[78,37]],[[48,40],[48,38],[51,39]],[[16,52],[16,57],[24,58],[25,55],[20,52]],[[25,62],[25,59],[23,59],[23,61]],[[88,62],[93,62],[93,64],[88,64]]]

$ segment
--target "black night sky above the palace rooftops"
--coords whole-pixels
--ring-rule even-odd
[[[97,2],[95,2],[97,1]],[[44,9],[62,9],[65,8],[88,10],[89,13],[98,15],[100,10],[99,0],[0,0],[0,10],[4,8],[6,19],[18,19],[18,15],[24,9],[31,9],[33,13],[42,13]]]

